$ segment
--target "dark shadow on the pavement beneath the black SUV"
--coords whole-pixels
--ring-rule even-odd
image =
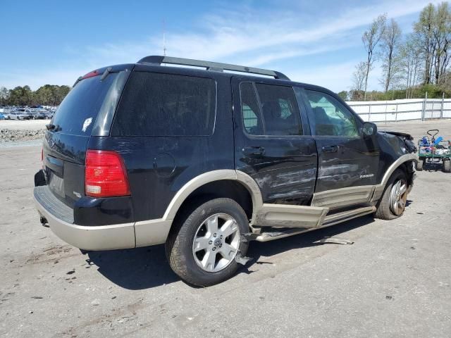
[[[302,249],[309,246],[340,245],[316,242],[324,237],[337,236],[343,232],[369,225],[373,222],[373,217],[364,216],[341,225],[325,227],[272,242],[251,242],[247,256],[252,258],[252,260],[243,265],[238,270],[238,273],[251,273],[248,270],[249,266],[264,264],[265,262],[259,261],[261,256],[273,256],[283,251]],[[89,265],[96,265],[99,273],[124,289],[149,289],[180,280],[180,277],[173,273],[166,261],[163,244],[137,249],[89,251],[87,252],[86,261]]]

